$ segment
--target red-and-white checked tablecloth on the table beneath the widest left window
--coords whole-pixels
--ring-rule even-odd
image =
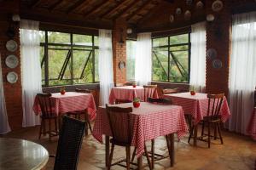
[[[90,121],[96,118],[96,105],[92,94],[66,92],[64,95],[61,93],[52,94],[50,98],[57,115],[68,111],[83,111],[87,109]],[[36,114],[41,111],[37,97],[34,100],[33,111]]]

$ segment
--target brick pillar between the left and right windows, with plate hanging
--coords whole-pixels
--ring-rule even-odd
[[[121,39],[124,44],[120,44]],[[126,22],[124,19],[118,19],[114,22],[113,26],[113,82],[124,83],[126,81],[126,68],[120,70],[119,62],[125,61],[126,63]]]

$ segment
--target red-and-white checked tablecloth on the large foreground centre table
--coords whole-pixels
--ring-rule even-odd
[[[115,105],[119,107],[131,107],[132,104]],[[178,139],[188,133],[183,109],[177,105],[158,105],[148,102],[141,102],[139,108],[133,108],[131,113],[133,122],[132,142],[137,147],[137,156],[144,152],[144,142],[165,136],[170,133],[177,133]],[[96,122],[93,127],[93,136],[102,143],[102,135],[111,136],[106,110],[100,107],[97,111]]]

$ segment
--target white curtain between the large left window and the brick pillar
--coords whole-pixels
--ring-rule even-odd
[[[99,30],[99,79],[100,105],[108,104],[108,96],[113,88],[112,32]]]

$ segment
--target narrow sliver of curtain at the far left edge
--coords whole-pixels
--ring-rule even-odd
[[[0,134],[4,134],[4,133],[10,132],[10,127],[9,127],[4,92],[3,92],[3,75],[2,75],[1,61],[2,60],[1,60],[1,54],[0,54]]]

